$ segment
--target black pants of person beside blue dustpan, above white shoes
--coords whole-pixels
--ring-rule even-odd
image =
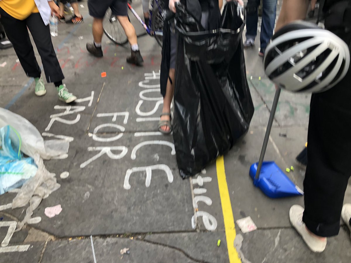
[[[344,195],[351,175],[350,83],[351,67],[335,87],[313,94],[311,98],[303,221],[318,236],[339,233]]]

